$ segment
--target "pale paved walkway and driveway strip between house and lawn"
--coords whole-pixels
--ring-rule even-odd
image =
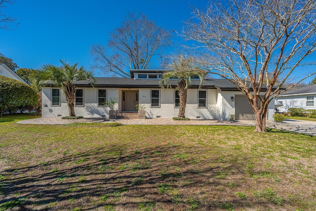
[[[45,125],[62,125],[67,123],[78,123],[78,122],[95,122],[95,123],[107,123],[107,122],[119,122],[124,125],[229,125],[229,126],[255,126],[255,121],[221,121],[221,120],[190,120],[190,121],[174,121],[172,119],[78,119],[78,120],[62,120],[61,118],[38,118],[23,120],[18,122],[19,124],[45,124]],[[267,127],[288,130],[298,133],[304,133],[308,135],[316,136],[316,122],[313,121],[302,121],[302,120],[289,120],[285,119],[284,122],[277,123],[268,121]]]

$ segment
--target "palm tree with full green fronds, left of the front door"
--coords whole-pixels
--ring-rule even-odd
[[[61,87],[65,93],[67,105],[69,108],[69,116],[75,115],[75,93],[76,82],[86,80],[89,83],[94,83],[95,78],[92,72],[84,70],[81,66],[77,68],[77,64],[70,65],[60,60],[62,66],[56,67],[54,65],[43,65],[40,71],[34,75],[34,85],[39,88],[48,83],[53,83],[56,87]]]

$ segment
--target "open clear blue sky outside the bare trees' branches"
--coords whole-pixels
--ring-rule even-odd
[[[106,44],[127,11],[148,15],[158,26],[181,31],[191,17],[190,5],[206,0],[16,0],[4,12],[18,18],[15,30],[0,30],[0,52],[21,68],[60,65],[59,59],[85,68],[92,64],[90,46]]]

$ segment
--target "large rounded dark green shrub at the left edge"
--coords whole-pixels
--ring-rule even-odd
[[[31,86],[5,76],[0,76],[0,96],[0,115],[38,102],[38,95]]]

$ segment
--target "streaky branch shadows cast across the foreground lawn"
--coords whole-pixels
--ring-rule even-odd
[[[269,178],[251,180],[247,162],[245,157],[194,158],[190,149],[167,144],[99,148],[1,171],[0,210],[278,210],[279,205],[249,193],[266,187]]]

